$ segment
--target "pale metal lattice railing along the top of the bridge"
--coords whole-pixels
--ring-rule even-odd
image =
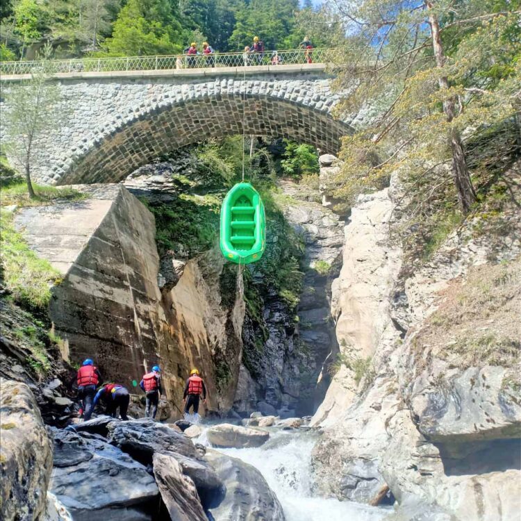
[[[158,71],[251,67],[255,65],[297,65],[326,63],[330,49],[291,49],[286,51],[178,54],[172,56],[127,56],[124,58],[77,58],[45,62],[47,74],[72,72]],[[41,61],[0,62],[0,74],[31,74],[42,67]]]

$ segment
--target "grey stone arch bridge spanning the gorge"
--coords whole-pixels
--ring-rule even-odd
[[[2,82],[9,89],[20,78]],[[330,79],[323,64],[56,74],[71,113],[35,143],[33,176],[56,185],[121,181],[177,147],[242,133],[243,114],[247,135],[336,154],[357,122],[333,117]]]

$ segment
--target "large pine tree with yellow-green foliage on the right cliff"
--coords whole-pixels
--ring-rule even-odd
[[[339,4],[349,35],[338,53],[336,85],[349,91],[339,113],[370,104],[378,115],[366,129],[344,140],[345,168],[338,195],[353,199],[398,167],[420,178],[436,165],[451,163],[459,206],[468,213],[476,194],[463,132],[475,133],[516,110],[520,64],[515,56],[519,56],[520,35],[515,27],[520,13],[498,9],[501,3],[360,0]],[[509,5],[510,10],[518,8],[519,1]],[[470,42],[476,47],[469,47]],[[490,67],[505,62],[499,81],[486,78]]]

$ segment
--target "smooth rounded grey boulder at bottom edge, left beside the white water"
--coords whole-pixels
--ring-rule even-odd
[[[210,509],[215,521],[285,520],[279,499],[256,468],[211,449],[206,460],[226,486],[222,503]]]

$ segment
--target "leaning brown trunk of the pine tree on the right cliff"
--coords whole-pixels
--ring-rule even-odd
[[[433,2],[426,0],[425,5],[431,12],[429,13],[429,24],[431,26],[432,47],[434,57],[436,58],[436,65],[441,69],[445,65],[445,55],[443,53],[443,46],[441,44],[440,24],[438,17],[432,12]],[[440,76],[438,78],[438,85],[440,89],[449,88],[449,80],[447,76]],[[454,106],[456,100],[454,97],[447,99],[443,103],[443,112],[447,116],[447,122],[451,123],[454,119]],[[476,192],[472,186],[470,179],[470,172],[468,171],[467,161],[465,160],[465,151],[463,149],[463,142],[461,135],[454,126],[451,127],[449,134],[449,142],[452,150],[452,174],[454,176],[454,184],[458,191],[458,201],[463,213],[468,213],[470,207],[476,202]]]

